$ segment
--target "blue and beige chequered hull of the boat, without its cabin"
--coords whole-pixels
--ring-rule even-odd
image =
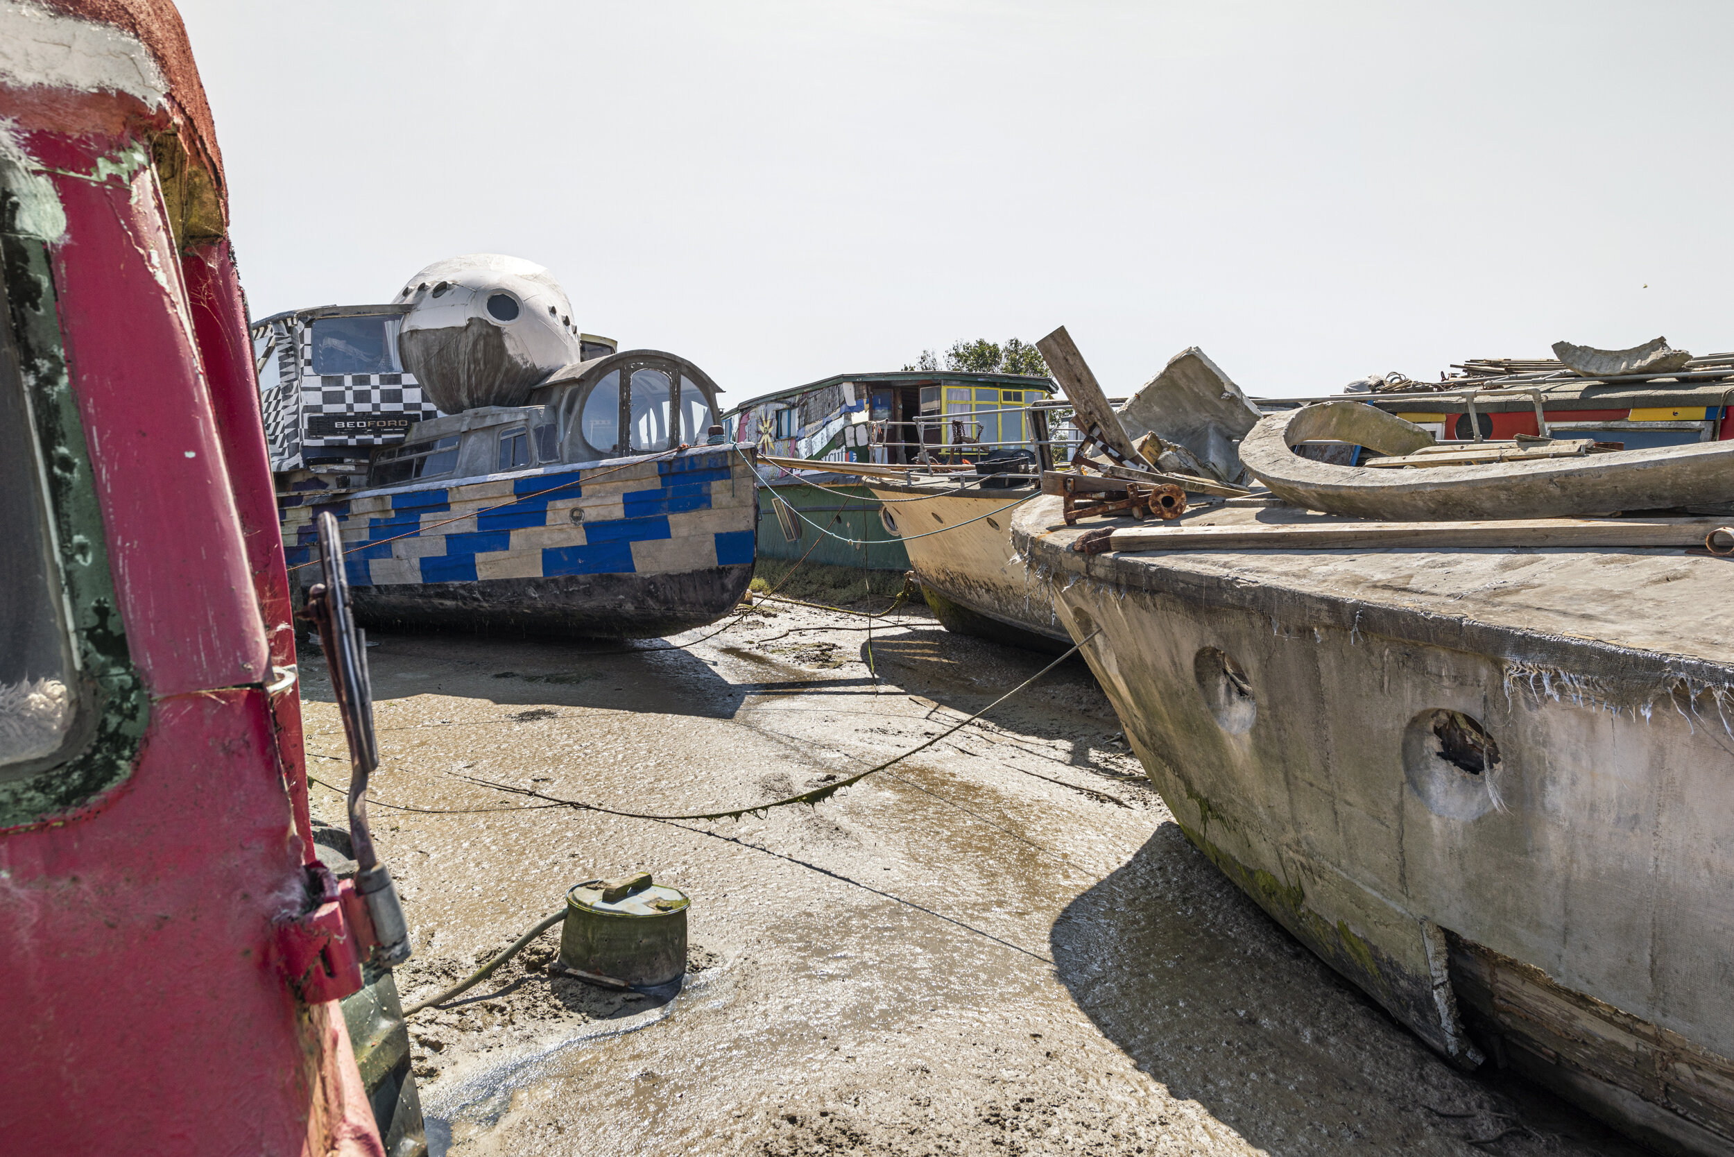
[[[721,618],[753,581],[758,479],[742,449],[293,496],[284,553],[316,562],[314,515],[331,510],[368,624],[668,635]],[[305,588],[317,572],[291,576]]]

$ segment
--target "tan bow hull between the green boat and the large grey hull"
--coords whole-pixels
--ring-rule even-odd
[[[1011,519],[1020,510],[1013,503],[1032,487],[961,494],[945,482],[870,480],[867,487],[886,503],[886,529],[910,536],[903,539],[910,569],[945,630],[1056,654],[1072,647],[1047,585],[1032,581],[1011,545]],[[922,494],[928,498],[909,501]]]

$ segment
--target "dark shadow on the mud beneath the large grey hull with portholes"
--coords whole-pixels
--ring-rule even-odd
[[[1498,1154],[1557,1152],[1561,1140],[1580,1154],[1640,1152],[1491,1065],[1476,1075],[1446,1065],[1271,921],[1177,824],[1066,905],[1049,940],[1061,984],[1103,1036],[1273,1154],[1351,1141],[1418,1152],[1410,1147],[1446,1138]]]

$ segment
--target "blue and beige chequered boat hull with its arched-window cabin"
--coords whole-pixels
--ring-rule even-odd
[[[286,479],[291,576],[316,581],[329,510],[369,626],[647,638],[713,623],[753,579],[758,517],[754,451],[711,425],[714,395],[687,359],[629,350],[553,373],[529,404],[416,422],[364,482]]]

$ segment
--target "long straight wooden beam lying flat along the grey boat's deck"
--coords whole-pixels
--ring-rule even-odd
[[[1484,522],[1330,522],[1101,527],[1073,550],[1498,550],[1552,546],[1705,546],[1717,519],[1502,519]],[[1087,541],[1087,545],[1085,545]]]

